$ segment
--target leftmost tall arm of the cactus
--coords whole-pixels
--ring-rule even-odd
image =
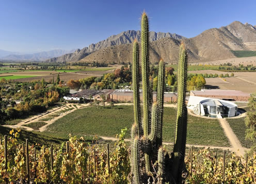
[[[140,97],[139,97],[139,45],[135,40],[133,43],[133,109],[134,121],[138,127],[138,135],[143,135],[140,119]]]

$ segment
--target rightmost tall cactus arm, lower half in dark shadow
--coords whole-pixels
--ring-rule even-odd
[[[185,104],[186,97],[186,79],[187,79],[187,53],[185,46],[180,47],[180,59],[178,68],[178,111],[177,111],[177,128],[173,148],[173,165],[172,175],[178,180],[178,171],[180,164],[184,161],[186,146],[187,130],[187,108]]]

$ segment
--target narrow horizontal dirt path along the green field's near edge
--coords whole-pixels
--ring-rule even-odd
[[[114,137],[106,137],[106,136],[99,136],[103,140],[111,140],[111,141],[117,141],[118,138]],[[124,139],[124,141],[130,142],[131,139]],[[163,142],[163,144],[166,145],[173,145],[173,142]],[[197,145],[197,144],[186,144],[188,148],[191,148],[192,146],[194,148],[210,148],[210,149],[221,149],[221,150],[230,150],[233,151],[233,147],[223,147],[223,146],[209,146],[209,145]]]

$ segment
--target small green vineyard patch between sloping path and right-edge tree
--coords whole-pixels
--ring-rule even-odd
[[[231,126],[238,140],[241,142],[242,146],[250,148],[252,142],[245,139],[245,118],[227,119],[227,121],[229,122],[229,125]]]

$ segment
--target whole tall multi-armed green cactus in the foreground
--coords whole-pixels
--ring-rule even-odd
[[[133,183],[178,183],[184,172],[187,110],[185,106],[187,56],[184,44],[180,48],[178,72],[178,114],[177,135],[171,158],[162,147],[165,63],[161,59],[158,66],[157,98],[152,104],[149,80],[149,23],[148,16],[141,16],[141,73],[143,91],[143,118],[140,115],[139,97],[139,49],[137,41],[133,44],[133,95],[134,121],[132,126],[132,173]],[[153,164],[158,162],[158,168]],[[177,163],[175,165],[174,163]],[[154,172],[156,171],[156,172]],[[180,172],[181,171],[181,172]]]

